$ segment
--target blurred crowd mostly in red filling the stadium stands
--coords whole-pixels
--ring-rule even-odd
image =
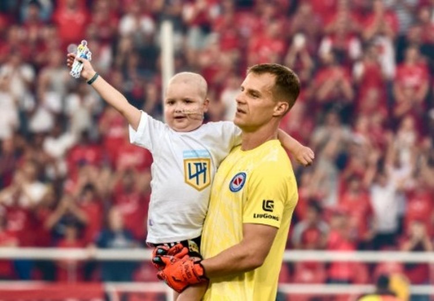
[[[2,0],[0,246],[144,247],[152,158],[128,143],[122,116],[68,74],[66,49],[87,39],[95,69],[161,119],[169,20],[174,71],[209,84],[207,121],[232,118],[247,66],[277,62],[299,74],[302,94],[281,128],[316,159],[308,168],[293,160],[300,198],[288,249],[432,251],[433,12],[432,0]],[[390,273],[433,283],[428,264],[342,261],[284,263],[280,283],[372,284]],[[54,287],[153,282],[155,272],[149,262],[4,259],[0,278]]]

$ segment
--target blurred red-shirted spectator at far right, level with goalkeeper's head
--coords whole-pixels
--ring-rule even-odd
[[[420,117],[425,110],[425,99],[429,89],[428,69],[420,57],[417,46],[410,46],[405,60],[398,65],[393,94],[395,97],[395,118],[401,119],[411,113]]]

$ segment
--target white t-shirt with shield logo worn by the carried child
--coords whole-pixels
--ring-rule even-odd
[[[130,141],[147,148],[151,165],[149,243],[178,242],[201,236],[210,187],[220,162],[241,143],[241,130],[229,121],[210,122],[177,132],[141,113]]]

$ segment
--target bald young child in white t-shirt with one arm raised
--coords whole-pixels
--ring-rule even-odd
[[[89,61],[69,53],[67,65],[71,67],[75,59],[83,63],[81,76],[127,119],[130,141],[147,148],[154,158],[147,243],[158,247],[181,242],[190,256],[200,257],[210,186],[220,162],[240,144],[240,129],[230,121],[203,124],[209,100],[207,83],[199,74],[182,72],[170,80],[164,95],[164,124],[130,105]],[[300,163],[312,162],[308,147],[282,131],[279,139]],[[206,284],[191,286],[175,300],[201,300],[205,290]]]

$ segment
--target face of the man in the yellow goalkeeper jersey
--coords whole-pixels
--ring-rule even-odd
[[[273,98],[275,75],[250,72],[237,95],[237,113],[233,122],[243,131],[255,131],[267,124],[277,103]]]

